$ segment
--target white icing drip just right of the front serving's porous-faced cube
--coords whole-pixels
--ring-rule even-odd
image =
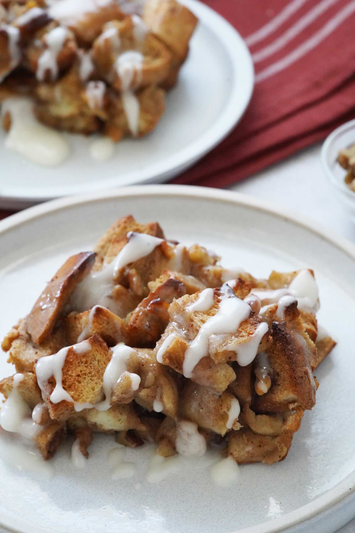
[[[117,344],[112,349],[112,357],[105,369],[103,376],[103,390],[105,393],[105,400],[96,403],[95,409],[98,411],[107,411],[111,407],[112,387],[118,382],[123,372],[127,372],[127,362],[134,350],[123,344]],[[130,373],[131,388],[133,391],[138,390],[141,378],[137,374]]]

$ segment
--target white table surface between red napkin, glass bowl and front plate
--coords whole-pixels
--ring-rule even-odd
[[[355,242],[355,224],[327,183],[316,144],[237,183],[230,190],[243,192],[304,214]],[[354,533],[355,519],[337,533]]]

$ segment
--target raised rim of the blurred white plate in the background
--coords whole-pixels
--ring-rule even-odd
[[[135,174],[138,174],[138,180],[133,184],[152,183],[171,179],[184,172],[187,168],[194,165],[204,155],[208,154],[215,148],[238,124],[244,115],[254,89],[254,66],[251,53],[240,33],[224,18],[222,15],[214,11],[208,5],[205,5],[200,0],[180,0],[191,11],[196,13],[202,25],[207,26],[218,41],[222,44],[224,51],[230,61],[230,72],[233,74],[233,81],[230,91],[225,102],[224,108],[216,118],[215,122],[192,143],[181,148],[168,158],[158,163],[152,163],[143,169],[137,169]],[[236,53],[237,51],[237,53]],[[241,59],[242,58],[242,59]],[[233,87],[238,83],[240,66],[243,64],[243,94],[237,94]],[[3,149],[5,149],[3,147]],[[1,151],[1,150],[0,150]],[[20,157],[20,156],[19,156]],[[163,166],[162,166],[163,163]],[[65,165],[65,163],[64,163]],[[50,172],[48,167],[48,172]],[[65,168],[63,170],[65,172]],[[103,183],[104,180],[104,183]],[[109,189],[119,186],[119,174],[108,175],[104,179],[100,177],[93,182],[85,183],[85,190],[94,192],[100,191],[103,188]],[[82,185],[84,187],[84,185]],[[127,185],[125,185],[127,186]],[[29,189],[29,190],[28,190]],[[77,195],[77,191],[70,192],[70,187],[67,186],[65,190],[61,191],[61,186],[56,185],[53,188],[53,193],[41,194],[39,187],[34,188],[31,193],[31,187],[26,187],[26,193],[20,193],[19,187],[13,190],[11,187],[6,187],[3,194],[0,193],[0,204],[4,207],[12,205],[14,207],[21,206],[21,204],[38,203],[40,201],[47,201],[62,196]],[[48,191],[47,191],[48,192]]]

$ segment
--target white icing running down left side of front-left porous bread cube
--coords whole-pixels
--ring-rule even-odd
[[[49,399],[52,403],[59,403],[62,400],[66,400],[74,403],[74,408],[77,411],[82,410],[84,404],[74,402],[71,395],[63,389],[62,377],[63,377],[63,365],[65,358],[67,357],[69,348],[73,348],[76,353],[86,353],[91,350],[91,344],[88,341],[82,341],[79,344],[73,346],[67,346],[62,348],[59,352],[52,356],[45,356],[38,359],[36,364],[36,376],[37,383],[42,393],[45,393],[48,379],[54,376],[55,387],[50,395]]]

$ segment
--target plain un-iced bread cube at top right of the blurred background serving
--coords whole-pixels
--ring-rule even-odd
[[[147,0],[143,20],[181,61],[197,24],[195,15],[176,0]]]

